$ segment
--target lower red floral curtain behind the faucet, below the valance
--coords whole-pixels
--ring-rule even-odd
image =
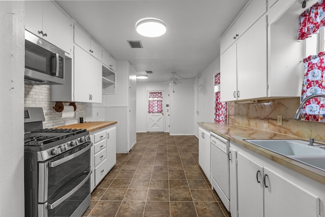
[[[325,61],[324,52],[311,55],[304,59],[305,76],[301,92],[301,101],[314,94],[325,92]],[[325,100],[313,98],[306,102],[303,107],[302,120],[325,121]]]

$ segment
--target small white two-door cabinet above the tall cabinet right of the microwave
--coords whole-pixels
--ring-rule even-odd
[[[102,61],[102,48],[75,24],[74,42],[96,59]]]

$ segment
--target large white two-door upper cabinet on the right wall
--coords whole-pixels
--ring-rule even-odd
[[[221,101],[267,96],[266,16],[259,18],[243,36],[221,54]]]

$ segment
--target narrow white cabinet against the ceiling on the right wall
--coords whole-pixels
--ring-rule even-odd
[[[265,14],[265,12],[265,0],[250,1],[233,25],[222,36],[220,41],[220,53],[223,53],[234,42],[236,42],[256,20]]]

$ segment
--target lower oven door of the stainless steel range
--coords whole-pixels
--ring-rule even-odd
[[[87,181],[82,185],[80,189],[78,189],[73,195],[71,195],[66,200],[63,200],[61,203],[57,201],[60,198],[64,197],[64,195],[68,194],[70,191],[75,189],[77,185],[82,182],[89,173],[84,173],[77,179],[75,179],[72,183],[70,183],[66,188],[62,189],[57,195],[53,198],[49,199],[48,204],[55,204],[54,208],[48,206],[48,216],[72,216],[72,214],[77,209],[82,209],[81,212],[83,213],[89,206],[89,203],[84,203],[84,207],[79,207],[82,202],[90,195],[90,178],[88,176]],[[90,202],[90,201],[89,201]],[[78,208],[79,207],[79,208]],[[78,210],[80,211],[80,210]]]

